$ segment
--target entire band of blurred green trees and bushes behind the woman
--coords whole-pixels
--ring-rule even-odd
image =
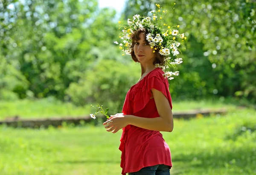
[[[122,20],[147,16],[155,3],[166,9],[176,3],[165,21],[188,36],[180,75],[169,82],[173,98],[236,96],[255,103],[253,0],[128,0]],[[53,96],[120,111],[140,71],[113,44],[120,32],[115,15],[96,0],[1,1],[0,99]]]

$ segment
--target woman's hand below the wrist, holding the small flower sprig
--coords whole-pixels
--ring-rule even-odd
[[[106,122],[103,123],[108,132],[116,133],[119,129],[128,125],[127,117],[123,113],[111,115]]]

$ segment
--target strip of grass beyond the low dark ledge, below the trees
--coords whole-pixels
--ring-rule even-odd
[[[212,100],[200,101],[175,101],[173,112],[187,111],[190,109],[235,109],[232,104]],[[50,118],[50,117],[78,117],[89,116],[95,112],[90,104],[84,107],[72,103],[62,103],[52,98],[41,100],[0,101],[0,120],[19,116],[20,118]],[[116,112],[118,113],[118,112]]]

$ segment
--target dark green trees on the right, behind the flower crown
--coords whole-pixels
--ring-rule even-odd
[[[215,0],[200,3],[196,0],[129,0],[124,20],[134,14],[148,15],[155,3],[166,9],[171,9],[176,3],[165,23],[170,26],[179,24],[181,30],[185,28],[187,31],[187,50],[183,52],[179,77],[179,81],[185,83],[175,88],[174,92],[180,89],[184,96],[193,98],[209,96],[214,92],[221,96],[243,96],[255,102],[256,3],[253,0],[234,3]]]

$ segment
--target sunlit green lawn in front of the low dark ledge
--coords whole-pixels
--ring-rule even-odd
[[[171,174],[256,174],[256,132],[241,127],[256,124],[255,114],[244,109],[175,120],[173,132],[162,132],[172,152]],[[239,128],[245,132],[237,132]],[[85,125],[38,130],[1,126],[0,133],[1,175],[120,175],[121,132]]]

